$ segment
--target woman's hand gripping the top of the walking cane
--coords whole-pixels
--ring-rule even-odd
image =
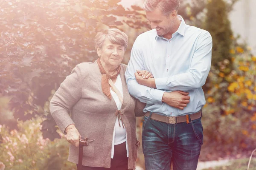
[[[81,138],[81,135],[76,129],[75,125],[74,124],[68,125],[65,131],[67,133],[67,142],[78,147],[79,139]]]

